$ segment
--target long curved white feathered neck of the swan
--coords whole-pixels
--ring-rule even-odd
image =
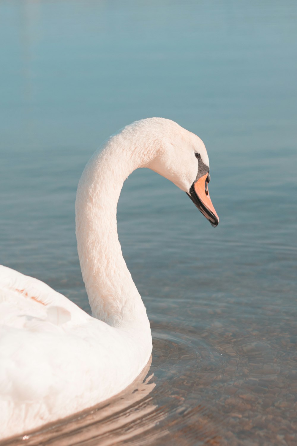
[[[143,139],[145,141],[145,139]],[[145,324],[146,309],[122,256],[117,203],[123,182],[145,167],[156,150],[127,131],[95,153],[81,176],[76,198],[77,250],[92,315],[112,326]],[[144,328],[144,327],[143,327]]]

